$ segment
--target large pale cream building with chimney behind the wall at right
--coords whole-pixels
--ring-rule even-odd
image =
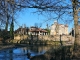
[[[58,24],[57,21],[54,21],[54,24],[51,26],[50,35],[68,35],[68,25]]]

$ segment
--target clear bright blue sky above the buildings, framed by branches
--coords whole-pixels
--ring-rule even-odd
[[[37,24],[41,24],[42,26],[41,28],[47,28],[47,24],[49,26],[51,26],[55,19],[51,19],[47,21],[47,16],[38,14],[38,13],[34,13],[36,10],[35,9],[24,9],[21,12],[17,13],[17,17],[16,17],[16,22],[15,26],[14,26],[14,30],[18,29],[20,26],[24,26],[24,24],[26,25],[26,27],[31,27],[31,26],[35,26],[35,23]],[[66,16],[67,17],[67,16]],[[65,24],[64,22],[60,21],[60,24]],[[72,25],[68,25],[69,26],[69,31],[72,29]]]

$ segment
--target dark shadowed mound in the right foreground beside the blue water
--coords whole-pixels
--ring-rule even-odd
[[[50,51],[46,52],[43,55],[43,57],[45,59],[47,58],[46,60],[71,60],[71,58],[72,58],[71,57],[72,56],[71,52],[72,51],[70,51],[70,50],[71,50],[70,46],[68,46],[68,47],[62,46],[57,50],[56,49],[53,49],[53,50],[51,49]],[[39,60],[40,57],[41,56],[38,56],[38,57],[35,56],[33,58],[33,60],[35,60],[35,58]],[[43,58],[41,60],[43,60]]]

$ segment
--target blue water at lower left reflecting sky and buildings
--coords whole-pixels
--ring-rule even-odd
[[[30,57],[44,54],[49,46],[27,46],[0,51],[0,60],[30,60]]]

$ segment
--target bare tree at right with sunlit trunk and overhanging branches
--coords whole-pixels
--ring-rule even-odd
[[[57,19],[62,18],[65,14],[73,16],[74,19],[74,28],[75,28],[75,45],[79,45],[79,33],[78,33],[78,10],[80,9],[79,0],[32,0],[33,3],[30,3],[33,6],[29,8],[37,8],[39,12],[54,12],[58,17]],[[65,16],[66,16],[65,15]],[[69,18],[69,17],[68,17]]]

